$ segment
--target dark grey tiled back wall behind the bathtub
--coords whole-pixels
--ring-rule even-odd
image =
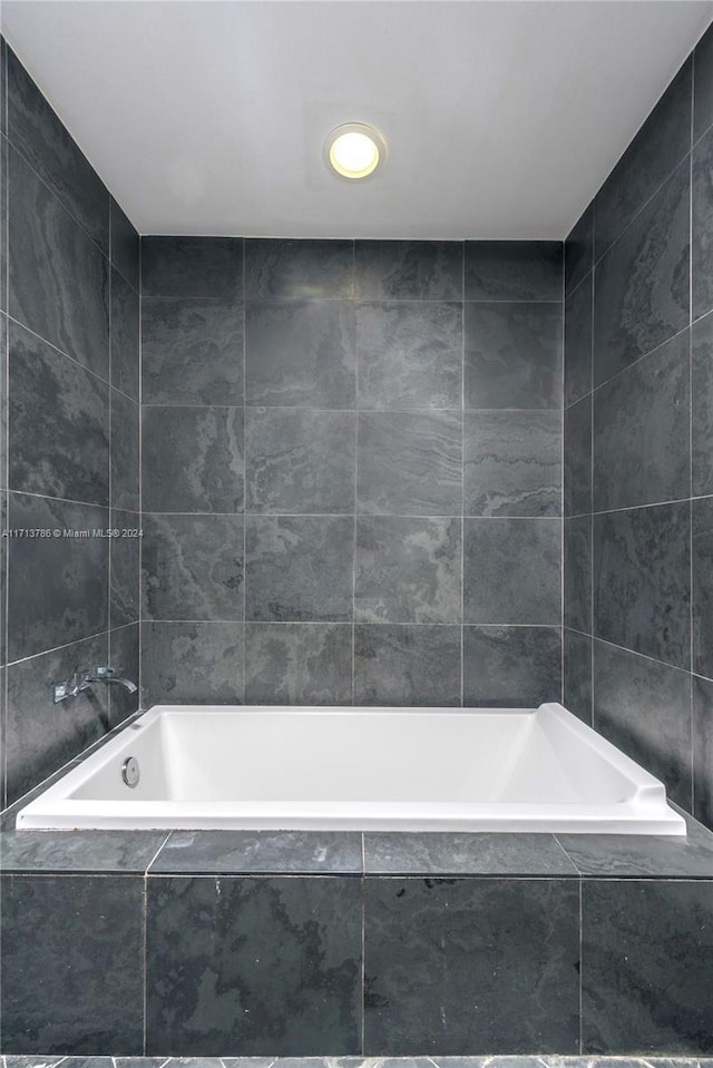
[[[145,703],[558,699],[561,244],[141,249]]]

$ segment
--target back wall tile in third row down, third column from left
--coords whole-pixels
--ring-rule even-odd
[[[362,412],[358,511],[460,515],[461,439],[462,415],[455,412]]]

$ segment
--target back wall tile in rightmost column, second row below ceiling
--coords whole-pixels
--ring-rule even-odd
[[[560,305],[467,304],[463,350],[466,408],[561,408]]]

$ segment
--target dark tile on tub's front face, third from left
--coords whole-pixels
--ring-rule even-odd
[[[365,886],[367,1055],[577,1050],[576,882],[372,876]]]

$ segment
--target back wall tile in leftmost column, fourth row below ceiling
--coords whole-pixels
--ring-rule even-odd
[[[241,516],[141,517],[146,619],[243,618]]]

